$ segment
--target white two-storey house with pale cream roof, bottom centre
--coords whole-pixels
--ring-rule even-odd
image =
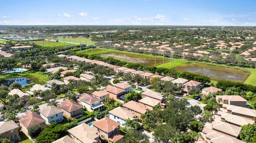
[[[132,111],[122,107],[117,107],[113,110],[108,111],[107,117],[120,123],[121,127],[125,127],[124,124],[126,123],[127,119],[134,120],[134,121],[136,120],[135,115],[133,114]]]

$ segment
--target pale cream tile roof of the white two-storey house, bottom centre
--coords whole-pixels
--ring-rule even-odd
[[[110,110],[108,113],[114,115],[114,116],[117,116],[121,119],[128,119],[130,118],[131,120],[134,120],[135,118],[135,115],[133,114],[132,111],[129,111],[125,108],[122,108],[122,107],[117,107],[113,110]]]

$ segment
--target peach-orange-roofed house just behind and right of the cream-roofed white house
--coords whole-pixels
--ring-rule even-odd
[[[133,112],[133,114],[135,115],[135,118],[138,118],[138,119],[140,119],[141,114],[146,114],[148,112],[148,108],[146,107],[146,105],[142,103],[138,103],[136,101],[127,102],[122,106],[123,108]]]

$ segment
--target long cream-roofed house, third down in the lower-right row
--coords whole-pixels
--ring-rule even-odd
[[[243,117],[236,116],[236,115],[229,114],[222,111],[218,111],[217,115],[219,117],[215,119],[220,118],[221,121],[228,121],[228,123],[231,123],[232,125],[236,125],[238,127],[242,125],[248,125],[248,123],[252,125],[255,123],[255,120],[253,119],[243,118]]]

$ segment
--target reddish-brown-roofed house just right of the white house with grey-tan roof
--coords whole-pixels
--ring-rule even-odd
[[[72,101],[65,99],[64,102],[58,106],[63,111],[63,116],[66,118],[83,116],[83,106]]]

